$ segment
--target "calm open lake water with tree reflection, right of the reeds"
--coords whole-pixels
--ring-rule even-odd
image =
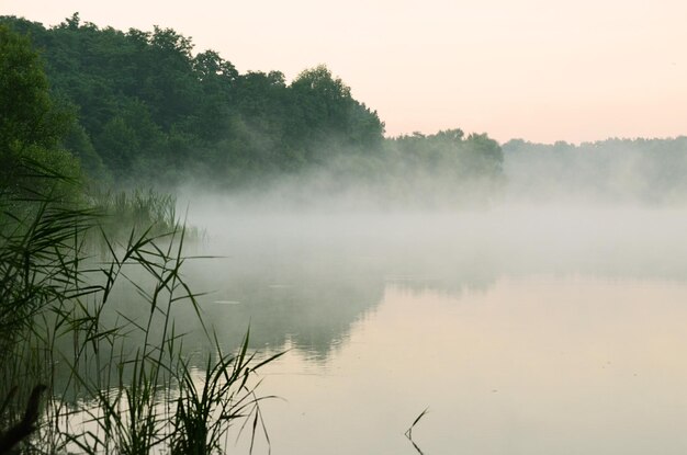
[[[425,454],[687,450],[687,213],[191,221],[221,341],[289,350],[261,372],[273,454],[414,454],[427,407]]]

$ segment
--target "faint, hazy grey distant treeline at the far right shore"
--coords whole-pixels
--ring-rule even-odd
[[[503,146],[508,194],[534,201],[687,202],[687,137]]]

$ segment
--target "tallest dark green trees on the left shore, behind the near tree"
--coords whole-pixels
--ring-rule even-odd
[[[78,14],[52,29],[0,22],[42,49],[54,92],[78,106],[88,137],[75,155],[88,156],[89,169],[104,163],[116,182],[211,175],[234,184],[322,162],[325,138],[347,147],[382,139],[376,113],[324,67],[288,86],[277,71],[239,75],[216,52],[194,55],[191,39],[171,29],[124,33]]]

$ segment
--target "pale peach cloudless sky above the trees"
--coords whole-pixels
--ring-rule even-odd
[[[684,0],[0,0],[55,25],[172,27],[241,71],[325,64],[386,135],[582,143],[687,134]]]

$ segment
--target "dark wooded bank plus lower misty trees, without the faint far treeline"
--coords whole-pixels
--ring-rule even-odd
[[[53,99],[76,120],[63,146],[100,181],[236,187],[317,170],[403,193],[408,177],[437,171],[442,183],[500,178],[500,148],[485,135],[385,139],[376,112],[324,66],[288,82],[279,71],[239,73],[171,29],[121,32],[78,14],[49,29],[0,24],[38,49]]]

